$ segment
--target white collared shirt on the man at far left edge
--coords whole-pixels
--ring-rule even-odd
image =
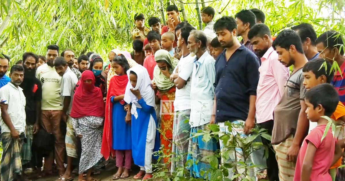
[[[26,99],[23,93],[23,89],[13,85],[9,82],[2,88],[0,88],[0,100],[6,100],[5,104],[8,104],[7,112],[10,115],[11,122],[19,133],[25,131],[26,114],[25,104]],[[1,132],[11,132],[8,126],[5,124],[2,118],[0,118]]]

